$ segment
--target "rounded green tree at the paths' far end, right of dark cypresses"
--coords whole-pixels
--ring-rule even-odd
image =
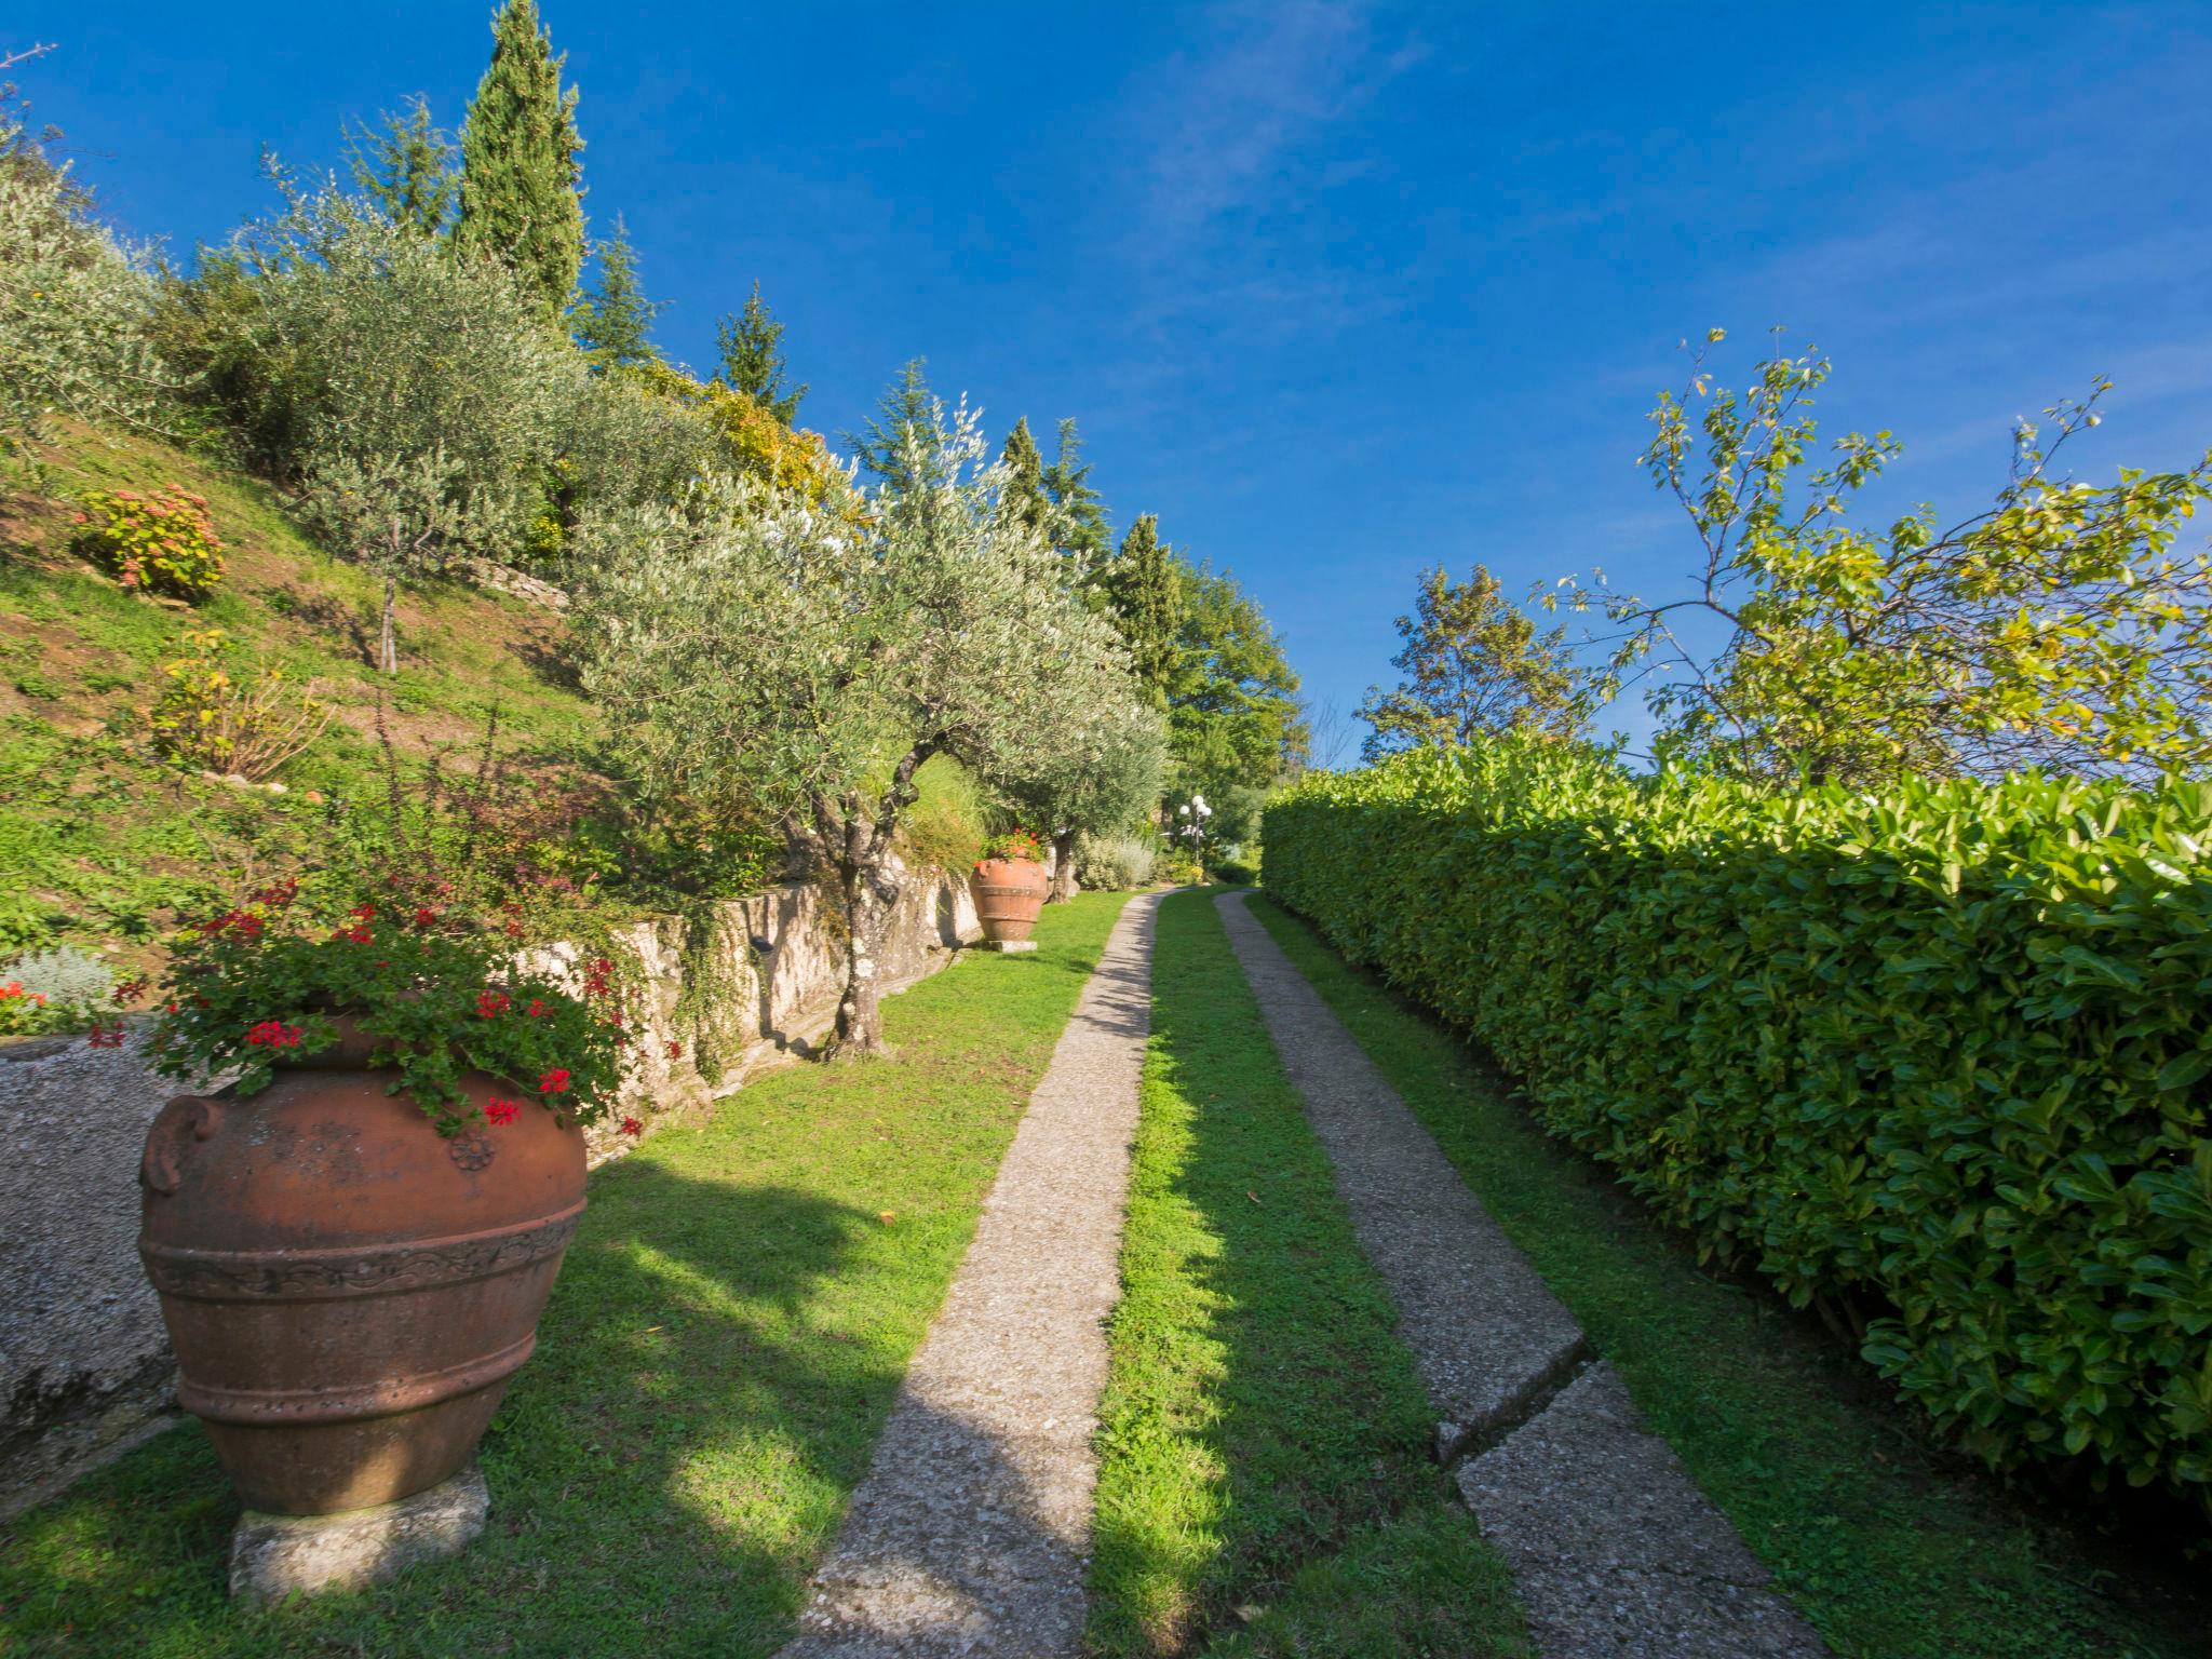
[[[1175,774],[1208,801],[1265,790],[1305,754],[1298,675],[1283,639],[1232,575],[1175,562],[1179,628],[1168,677]]]

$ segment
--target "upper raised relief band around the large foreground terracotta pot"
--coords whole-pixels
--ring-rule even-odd
[[[378,1250],[181,1250],[139,1241],[146,1276],[164,1296],[199,1301],[246,1301],[296,1296],[389,1296],[403,1290],[491,1279],[529,1267],[568,1248],[584,1217],[573,1203],[549,1221],[467,1232],[451,1239],[416,1239]]]

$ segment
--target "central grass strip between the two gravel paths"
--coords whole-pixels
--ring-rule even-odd
[[[1212,896],[1164,900],[1091,1650],[1524,1655]]]

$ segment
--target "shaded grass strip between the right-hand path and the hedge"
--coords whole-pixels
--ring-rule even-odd
[[[1624,1376],[1652,1429],[1838,1655],[2201,1655],[2163,1590],[2002,1502],[1763,1296],[1697,1270],[1604,1172],[1548,1141],[1451,1033],[1287,911],[1252,914],[1336,1009],[1475,1197]],[[2199,1608],[2203,1617],[2203,1608]]]

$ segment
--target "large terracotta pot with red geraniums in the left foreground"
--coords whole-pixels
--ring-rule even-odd
[[[442,1139],[361,1046],[146,1135],[139,1254],[252,1509],[407,1498],[467,1464],[584,1214],[584,1135],[535,1102]],[[495,1086],[467,1079],[482,1104]]]

